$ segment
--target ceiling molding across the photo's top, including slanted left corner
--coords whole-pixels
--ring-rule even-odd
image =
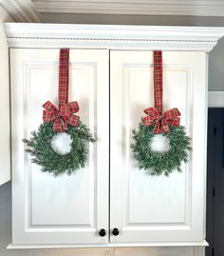
[[[0,5],[16,22],[58,17],[63,23],[71,14],[224,17],[224,0],[0,0]]]

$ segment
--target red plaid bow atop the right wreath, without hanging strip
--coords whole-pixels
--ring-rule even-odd
[[[169,126],[178,127],[180,118],[180,112],[177,108],[171,108],[159,115],[157,108],[147,108],[144,110],[148,116],[144,117],[143,124],[144,126],[152,126],[155,124],[154,133],[170,133]]]

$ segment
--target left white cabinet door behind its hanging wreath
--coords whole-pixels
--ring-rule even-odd
[[[42,105],[57,106],[59,49],[11,49],[12,243],[103,244],[108,232],[108,51],[70,49],[69,101],[91,129],[83,169],[53,177],[32,164],[23,138],[42,123]]]

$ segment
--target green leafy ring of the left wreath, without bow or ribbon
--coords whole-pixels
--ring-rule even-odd
[[[94,143],[95,139],[83,123],[78,127],[67,124],[67,133],[72,142],[70,152],[65,155],[58,154],[51,148],[51,139],[57,134],[53,130],[53,122],[41,124],[37,132],[31,132],[32,138],[23,140],[27,145],[26,151],[33,156],[32,162],[41,166],[42,171],[54,176],[62,173],[70,175],[76,169],[84,167],[88,150],[86,144]]]

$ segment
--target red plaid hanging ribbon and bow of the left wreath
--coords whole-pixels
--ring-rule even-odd
[[[76,101],[68,103],[68,60],[69,49],[60,49],[59,64],[59,90],[58,90],[58,106],[55,107],[51,102],[47,101],[43,108],[43,120],[45,123],[54,121],[53,129],[57,132],[64,132],[67,125],[79,126],[80,117],[74,115],[79,111],[79,105]]]

